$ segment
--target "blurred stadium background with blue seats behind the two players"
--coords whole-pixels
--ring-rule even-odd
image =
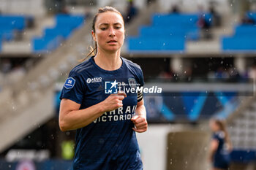
[[[165,87],[144,97],[144,169],[209,169],[211,117],[227,122],[230,169],[256,169],[255,0],[0,0],[0,169],[72,169],[59,94],[106,5],[124,15],[121,55]]]

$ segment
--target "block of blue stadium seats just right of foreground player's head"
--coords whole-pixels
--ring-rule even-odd
[[[211,15],[204,14],[203,18],[211,23]],[[199,14],[154,14],[151,26],[140,27],[138,37],[128,38],[128,49],[130,52],[184,51],[186,40],[200,39],[199,19]]]

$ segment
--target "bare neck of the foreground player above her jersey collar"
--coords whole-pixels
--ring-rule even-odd
[[[97,49],[97,55],[94,57],[95,63],[102,69],[113,71],[121,67],[120,50],[115,53],[108,53]]]

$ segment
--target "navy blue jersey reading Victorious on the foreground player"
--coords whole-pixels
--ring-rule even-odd
[[[121,58],[122,65],[106,71],[94,62],[94,57],[75,66],[69,73],[60,98],[68,98],[80,109],[104,101],[110,93],[125,91],[123,107],[105,112],[86,127],[77,129],[74,169],[113,170],[143,169],[134,124],[138,93],[131,88],[142,87],[143,72],[135,63]],[[141,99],[141,98],[140,98]]]

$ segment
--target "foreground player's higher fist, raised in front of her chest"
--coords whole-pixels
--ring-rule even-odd
[[[117,94],[110,94],[108,98],[102,101],[102,108],[104,112],[110,112],[119,107],[123,107],[123,100],[127,97],[127,94],[124,92],[118,92]]]

